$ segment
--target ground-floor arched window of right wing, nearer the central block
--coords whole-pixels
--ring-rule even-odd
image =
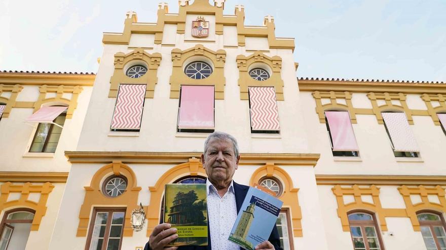
[[[350,233],[355,250],[384,249],[375,216],[364,212],[348,215]]]

